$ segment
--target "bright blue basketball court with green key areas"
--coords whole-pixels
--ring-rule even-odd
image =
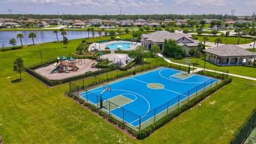
[[[142,124],[146,127],[156,122],[216,83],[214,78],[160,68],[110,83],[111,91],[102,93],[102,110],[138,129]],[[79,97],[99,107],[104,90],[102,86],[79,93]]]

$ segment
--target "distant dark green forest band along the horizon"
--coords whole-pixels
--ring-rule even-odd
[[[12,18],[12,19],[23,19],[26,20],[28,18],[34,19],[64,19],[64,20],[88,20],[88,19],[117,19],[117,20],[125,20],[125,19],[155,19],[155,20],[164,20],[164,19],[234,19],[237,17],[225,14],[201,14],[201,15],[179,15],[179,14],[148,14],[148,15],[91,15],[91,14],[64,14],[64,15],[39,15],[39,14],[0,14],[0,18]]]

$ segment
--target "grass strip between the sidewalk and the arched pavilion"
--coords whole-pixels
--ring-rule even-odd
[[[175,59],[171,58],[170,60],[173,61],[173,62],[185,64],[185,59],[175,60]],[[201,68],[204,67],[203,57],[198,58],[197,60],[196,60],[196,58],[190,59],[190,60],[191,60],[191,63],[196,63],[196,62],[199,63],[198,67],[201,67]],[[215,70],[217,68],[218,71],[227,71],[227,70],[229,70],[230,74],[236,74],[236,75],[242,75],[242,76],[248,76],[248,77],[256,78],[256,69],[245,67],[245,66],[223,66],[223,67],[219,67],[217,65],[214,65],[211,62],[206,61],[205,62],[205,68],[206,69],[212,69],[212,70]]]

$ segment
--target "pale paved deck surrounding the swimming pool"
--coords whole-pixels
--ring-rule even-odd
[[[107,45],[109,44],[115,44],[115,43],[131,43],[133,44],[132,46],[130,46],[131,48],[130,49],[124,49],[123,51],[130,51],[130,50],[134,50],[137,46],[140,45],[140,43],[137,43],[137,42],[128,42],[128,41],[109,41],[109,42],[105,42],[105,43],[98,43],[96,45],[94,44],[90,44],[89,46],[89,51],[95,51],[95,50],[98,50],[98,51],[102,51],[102,50],[105,50],[105,47],[107,47]],[[122,48],[121,48],[122,49]],[[111,50],[111,49],[110,49]],[[106,51],[110,51],[110,50],[106,50]]]

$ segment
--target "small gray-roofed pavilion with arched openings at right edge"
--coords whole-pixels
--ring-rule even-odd
[[[255,61],[256,53],[228,44],[204,50],[207,61],[219,66],[240,66],[247,64],[249,59]]]

